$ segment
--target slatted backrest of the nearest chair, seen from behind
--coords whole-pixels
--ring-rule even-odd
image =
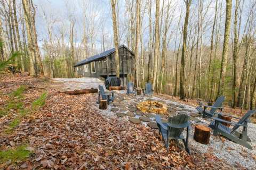
[[[189,116],[186,114],[179,114],[177,116],[172,116],[169,117],[169,123],[170,124],[175,124],[175,125],[180,125],[180,124],[184,124],[187,123],[189,121]],[[184,130],[184,128],[169,128],[169,136],[173,137],[173,138],[179,138],[180,134],[182,133],[182,131]]]

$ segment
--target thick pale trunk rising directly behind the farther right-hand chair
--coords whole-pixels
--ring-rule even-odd
[[[225,90],[225,77],[226,77],[227,57],[228,57],[228,42],[229,42],[230,24],[231,24],[231,8],[232,8],[232,0],[226,0],[225,33],[224,33],[223,51],[222,51],[222,59],[221,59],[221,70],[220,70],[220,79],[219,79],[219,87],[218,87],[217,97],[223,95],[223,92]]]

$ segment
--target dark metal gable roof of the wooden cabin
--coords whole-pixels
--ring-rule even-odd
[[[128,49],[125,45],[122,45],[122,46],[119,46],[119,48],[121,47],[125,47],[126,49]],[[111,53],[114,53],[115,52],[115,48],[111,48],[109,50],[106,50],[105,52],[103,53],[100,53],[100,54],[97,54],[97,55],[94,55],[94,56],[91,56],[89,58],[86,58],[85,60],[82,60],[81,62],[78,62],[74,65],[74,67],[77,67],[77,66],[80,66],[80,65],[84,65],[84,64],[87,64],[87,63],[90,63],[90,62],[93,62],[95,60],[99,60],[101,58],[104,58],[106,57],[107,55],[111,54]],[[129,49],[128,49],[129,50]],[[129,50],[131,52],[131,50]],[[131,52],[132,53],[132,52]]]

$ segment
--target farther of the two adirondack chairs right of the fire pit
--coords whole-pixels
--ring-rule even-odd
[[[205,116],[212,117],[214,113],[216,113],[217,109],[220,109],[220,112],[222,111],[223,109],[222,103],[224,100],[225,100],[225,96],[220,96],[217,98],[213,106],[203,105],[204,108],[202,108],[201,106],[198,106],[196,109],[199,113],[203,114],[203,117]],[[207,108],[211,108],[210,111],[207,111],[206,110]]]

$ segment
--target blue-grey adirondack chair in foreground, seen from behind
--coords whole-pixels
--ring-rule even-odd
[[[188,152],[188,154],[190,154],[190,151],[188,148],[188,134],[189,134],[189,126],[190,126],[189,116],[185,114],[179,114],[177,116],[169,117],[168,123],[163,123],[159,115],[156,115],[155,119],[157,122],[159,133],[162,134],[167,152],[169,150],[170,139],[175,139],[175,140],[181,139],[185,145],[186,151]],[[187,128],[186,140],[182,135],[182,131],[185,128]]]

